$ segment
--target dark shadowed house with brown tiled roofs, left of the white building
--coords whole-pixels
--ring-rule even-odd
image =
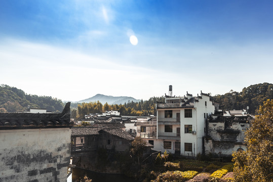
[[[102,154],[129,154],[134,137],[125,131],[124,124],[101,122],[88,127],[72,127],[71,130],[71,156],[76,167],[104,173],[121,173],[119,168],[108,167],[102,170],[98,166],[102,165]]]

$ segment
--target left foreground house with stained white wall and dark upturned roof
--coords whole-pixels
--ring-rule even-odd
[[[66,181],[69,112],[0,113],[0,181]]]

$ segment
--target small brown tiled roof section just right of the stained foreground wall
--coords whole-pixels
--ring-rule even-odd
[[[88,136],[88,135],[97,135],[99,134],[100,129],[98,127],[77,127],[74,126],[71,128],[71,136]]]

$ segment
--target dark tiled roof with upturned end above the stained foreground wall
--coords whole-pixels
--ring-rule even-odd
[[[72,127],[70,102],[60,114],[51,113],[0,113],[0,129]]]

